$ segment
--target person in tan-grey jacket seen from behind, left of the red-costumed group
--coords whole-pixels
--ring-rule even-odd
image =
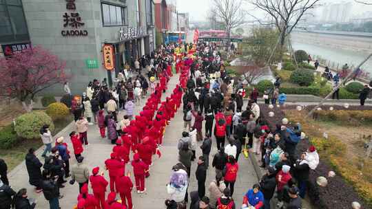
[[[81,188],[83,187],[84,184],[88,184],[89,182],[89,169],[87,167],[87,164],[83,162],[84,157],[79,156],[76,158],[77,164],[74,164],[71,168],[71,179],[74,182],[77,181],[79,184],[79,192],[81,192]]]

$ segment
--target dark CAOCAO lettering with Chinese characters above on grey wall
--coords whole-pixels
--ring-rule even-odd
[[[76,10],[75,1],[77,0],[65,0],[66,10]],[[87,36],[87,30],[80,30],[80,28],[85,25],[81,20],[79,12],[65,12],[63,17],[63,27],[72,28],[70,30],[62,30],[62,36]]]

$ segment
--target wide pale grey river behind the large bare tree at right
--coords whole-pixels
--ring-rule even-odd
[[[311,36],[311,34],[294,33],[292,37],[293,50],[304,50],[314,58],[320,56],[322,59],[327,60],[326,63],[330,63],[331,67],[342,67],[345,63],[349,66],[356,66],[371,53],[369,47],[372,39],[364,39],[362,42],[358,41],[358,43],[355,41],[353,45],[350,45],[349,41],[333,35]],[[308,39],[309,37],[311,39]],[[327,41],[329,39],[332,39],[332,43]],[[358,46],[355,49],[357,44],[368,45],[368,47],[362,48]],[[372,59],[364,63],[361,68],[372,75]]]

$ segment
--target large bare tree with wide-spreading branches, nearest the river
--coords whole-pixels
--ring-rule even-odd
[[[315,8],[320,0],[249,0],[260,10],[265,11],[280,32],[280,45],[285,45],[285,38],[291,34],[293,28],[302,16]]]

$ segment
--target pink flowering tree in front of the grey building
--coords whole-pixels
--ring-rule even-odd
[[[65,63],[48,50],[34,47],[0,58],[0,95],[15,98],[25,111],[33,108],[34,96],[57,83],[64,83]]]

